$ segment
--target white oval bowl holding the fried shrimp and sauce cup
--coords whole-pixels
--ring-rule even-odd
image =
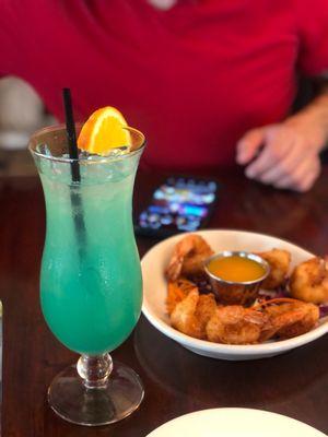
[[[302,261],[314,257],[313,253],[289,241],[269,235],[243,231],[201,231],[201,235],[215,252],[221,250],[262,251],[272,248],[286,249],[292,253],[292,268]],[[232,345],[211,343],[194,339],[175,330],[169,324],[165,308],[167,282],[164,276],[165,268],[172,256],[174,246],[184,235],[165,239],[154,246],[141,261],[143,275],[142,312],[148,320],[163,334],[180,343],[188,350],[204,356],[221,359],[257,359],[270,357],[309,343],[328,331],[327,318],[321,319],[318,327],[294,339],[272,341],[253,345]]]

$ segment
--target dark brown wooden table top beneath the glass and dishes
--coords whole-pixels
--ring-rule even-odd
[[[306,194],[282,192],[216,173],[220,201],[210,227],[249,229],[328,252],[328,168]],[[134,203],[141,209],[165,175],[140,173]],[[36,177],[0,178],[0,297],[4,308],[4,437],[141,437],[181,414],[209,408],[244,406],[282,413],[328,433],[328,338],[277,357],[226,362],[196,355],[141,317],[134,332],[113,353],[141,376],[140,409],[115,425],[87,428],[57,417],[46,401],[54,376],[78,355],[48,330],[38,304],[38,272],[45,209]],[[142,256],[156,240],[138,238]]]

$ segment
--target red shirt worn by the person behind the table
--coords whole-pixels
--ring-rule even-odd
[[[62,118],[112,105],[148,138],[143,161],[234,163],[249,128],[289,113],[296,71],[328,70],[327,0],[1,0],[0,72],[25,79]]]

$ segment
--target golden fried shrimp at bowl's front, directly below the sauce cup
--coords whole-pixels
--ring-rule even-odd
[[[260,340],[269,317],[261,311],[230,305],[216,308],[207,324],[208,340],[225,344],[254,344]]]

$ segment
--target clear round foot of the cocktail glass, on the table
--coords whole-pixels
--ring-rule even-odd
[[[77,366],[68,367],[52,380],[48,401],[55,413],[68,422],[101,426],[130,415],[140,405],[143,394],[136,371],[115,362],[105,388],[85,388]]]

